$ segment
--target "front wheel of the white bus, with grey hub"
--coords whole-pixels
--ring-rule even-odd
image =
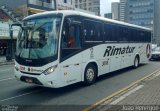
[[[96,68],[93,64],[89,64],[84,73],[84,84],[85,85],[91,85],[95,82],[96,80]]]

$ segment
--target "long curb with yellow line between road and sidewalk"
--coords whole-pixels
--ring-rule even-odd
[[[145,76],[145,77],[143,77],[142,79],[139,79],[139,80],[137,80],[137,81],[129,84],[128,86],[126,86],[126,87],[120,89],[119,91],[117,91],[117,92],[115,92],[115,93],[113,93],[113,94],[111,94],[111,95],[109,95],[109,96],[107,96],[107,97],[99,100],[98,102],[92,104],[91,106],[85,108],[85,109],[82,110],[82,111],[92,111],[92,110],[96,109],[99,105],[103,104],[105,101],[107,101],[107,100],[109,100],[109,99],[112,99],[113,97],[115,97],[115,96],[117,96],[117,95],[125,92],[125,91],[128,90],[129,88],[131,88],[131,87],[135,86],[136,84],[138,84],[138,83],[140,83],[140,82],[142,82],[142,81],[150,78],[151,76],[153,76],[155,73],[157,73],[157,72],[159,72],[159,71],[160,71],[160,69],[152,72],[152,73],[149,74],[148,76]]]

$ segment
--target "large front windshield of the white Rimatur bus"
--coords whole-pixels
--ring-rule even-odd
[[[24,21],[17,38],[16,56],[42,59],[57,55],[61,17],[36,18]]]

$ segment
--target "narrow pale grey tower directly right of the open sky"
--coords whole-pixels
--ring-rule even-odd
[[[112,10],[112,19],[120,20],[120,15],[119,15],[120,3],[113,2],[111,6],[111,10]]]

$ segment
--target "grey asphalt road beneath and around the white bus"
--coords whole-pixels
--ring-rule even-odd
[[[160,62],[150,62],[137,69],[123,69],[98,78],[91,86],[74,84],[60,89],[44,88],[17,81],[13,65],[0,66],[0,105],[79,106],[96,103],[125,86],[160,68]]]

